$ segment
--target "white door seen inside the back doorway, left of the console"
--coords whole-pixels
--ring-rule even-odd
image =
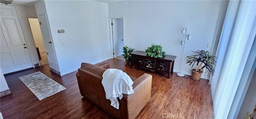
[[[113,49],[114,58],[122,55],[122,49],[124,47],[124,22],[123,18],[112,19],[112,30],[113,30]]]

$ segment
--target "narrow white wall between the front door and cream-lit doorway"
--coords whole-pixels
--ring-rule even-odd
[[[28,23],[28,18],[37,18],[36,10],[33,7],[18,6],[16,5],[16,10],[21,23],[22,31],[27,43],[28,51],[32,60],[32,64],[39,64],[38,54],[36,51],[36,46],[33,40],[31,29]],[[33,65],[34,66],[34,65]]]

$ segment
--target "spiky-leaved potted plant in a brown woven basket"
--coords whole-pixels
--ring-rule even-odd
[[[195,55],[187,56],[186,63],[188,65],[192,64],[192,67],[196,63],[196,69],[192,69],[191,78],[194,80],[199,80],[203,69],[206,68],[207,72],[211,72],[212,75],[214,74],[215,66],[216,66],[216,57],[213,55],[209,55],[209,51],[192,51]]]

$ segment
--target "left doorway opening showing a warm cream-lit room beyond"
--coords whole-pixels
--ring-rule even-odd
[[[28,18],[28,22],[36,45],[40,65],[49,64],[38,18]]]

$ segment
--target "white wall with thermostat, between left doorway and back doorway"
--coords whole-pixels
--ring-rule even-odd
[[[78,0],[44,2],[61,75],[77,70],[82,62],[95,64],[110,59],[108,4]],[[59,29],[65,33],[58,33]]]

